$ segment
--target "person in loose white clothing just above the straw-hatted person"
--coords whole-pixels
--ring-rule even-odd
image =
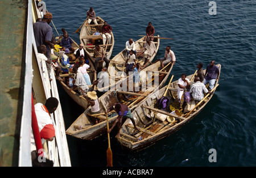
[[[73,67],[73,73],[76,74],[73,90],[75,90],[77,87],[77,90],[79,91],[80,95],[83,95],[82,91],[88,92],[89,87],[86,83],[84,76],[82,76],[81,71],[78,70],[77,67]]]

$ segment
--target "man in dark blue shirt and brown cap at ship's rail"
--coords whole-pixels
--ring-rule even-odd
[[[34,23],[33,29],[34,29],[34,35],[35,35],[35,41],[36,41],[36,47],[40,45],[46,45],[46,57],[49,61],[52,62],[52,56],[51,56],[51,48],[54,48],[54,44],[52,44],[52,27],[49,26],[49,23],[52,21],[52,14],[50,12],[46,12],[44,14],[42,21],[38,21]],[[47,71],[49,80],[51,81],[51,69],[52,65],[50,63],[46,63]]]

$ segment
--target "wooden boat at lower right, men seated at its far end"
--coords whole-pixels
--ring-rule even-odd
[[[220,64],[216,66],[221,69]],[[192,77],[193,75],[189,75],[187,78],[191,80]],[[184,124],[187,124],[187,122],[191,121],[192,118],[194,118],[198,113],[202,111],[205,105],[209,103],[217,86],[218,80],[216,80],[212,94],[205,96],[205,98],[201,100],[199,104],[197,104],[198,107],[196,107],[196,111],[191,109],[192,111],[183,113],[182,111],[179,111],[179,104],[175,105],[175,99],[177,97],[177,81],[170,83],[170,86],[166,86],[160,89],[158,94],[154,93],[148,96],[148,98],[140,103],[139,107],[135,108],[132,112],[133,116],[136,118],[135,122],[140,128],[140,132],[135,130],[133,128],[133,124],[131,124],[131,121],[127,119],[120,130],[121,137],[117,138],[118,142],[122,145],[122,148],[134,151],[141,150],[147,146],[152,145],[159,139],[167,137],[168,135],[174,133],[176,130],[180,129]],[[167,87],[169,91],[166,90]],[[180,116],[154,108],[156,101],[162,98],[164,92],[166,91],[168,91],[167,97],[171,98],[172,102],[170,104],[170,108],[172,107],[172,111],[179,111],[177,114],[180,113]],[[167,115],[168,118],[165,121],[154,119],[154,117],[148,118],[146,115],[150,114],[151,112],[162,113]]]

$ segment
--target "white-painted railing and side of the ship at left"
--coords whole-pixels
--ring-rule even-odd
[[[59,101],[59,93],[57,91],[57,84],[53,70],[51,70],[52,82],[49,82],[46,63],[42,63],[38,58],[38,51],[36,49],[34,31],[33,31],[33,19],[32,19],[32,1],[28,1],[28,16],[27,16],[27,41],[26,41],[26,70],[24,80],[24,100],[23,100],[23,115],[20,128],[20,148],[19,148],[19,166],[32,166],[31,163],[31,92],[32,92],[32,55],[36,53],[38,60],[39,71],[42,77],[42,83],[44,91],[46,92],[46,98],[55,97]],[[36,8],[37,10],[37,8]],[[40,12],[37,11],[38,14]],[[34,52],[33,50],[34,49]],[[55,139],[52,142],[44,144],[44,150],[47,153],[47,157],[53,160],[54,166],[71,166],[71,160],[69,156],[69,149],[67,144],[67,138],[65,134],[64,118],[61,109],[61,105],[57,107],[56,111],[51,114],[53,125],[55,126]]]

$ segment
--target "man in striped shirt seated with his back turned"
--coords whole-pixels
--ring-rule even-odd
[[[212,94],[212,92],[208,91],[205,87],[204,83],[200,82],[199,77],[195,77],[194,84],[192,84],[190,88],[190,93],[192,95],[192,98],[196,101],[201,101],[204,98],[204,92]]]

